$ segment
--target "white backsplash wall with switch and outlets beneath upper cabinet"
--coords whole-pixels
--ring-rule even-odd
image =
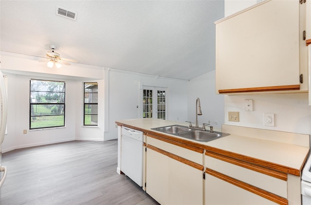
[[[244,100],[253,100],[253,111],[244,111]],[[228,111],[239,111],[240,122],[229,122]],[[275,114],[275,126],[264,126],[263,114]],[[311,134],[308,94],[226,95],[225,124]]]

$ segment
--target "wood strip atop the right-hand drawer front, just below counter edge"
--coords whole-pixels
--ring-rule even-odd
[[[243,167],[243,168],[246,168],[249,170],[253,170],[255,172],[263,173],[263,174],[266,174],[266,175],[287,181],[287,174],[286,173],[277,172],[275,170],[271,170],[271,169],[268,169],[265,167],[261,167],[261,166],[258,166],[258,165],[255,165],[255,164],[252,164],[252,163],[249,163],[246,161],[241,161],[241,160],[235,159],[235,158],[229,158],[229,157],[226,157],[224,155],[216,154],[216,153],[209,152],[209,151],[206,151],[205,155],[212,157],[212,158],[217,158],[219,160],[222,160],[222,161],[225,161],[225,162],[228,162],[231,164],[235,164],[237,166],[240,166],[240,167]]]

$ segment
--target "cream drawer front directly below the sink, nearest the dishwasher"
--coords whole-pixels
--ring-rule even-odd
[[[203,165],[203,154],[147,136],[147,144]]]

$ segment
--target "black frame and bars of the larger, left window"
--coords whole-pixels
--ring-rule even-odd
[[[37,81],[48,81],[48,82],[62,82],[64,83],[64,92],[52,92],[52,91],[33,91],[31,90],[31,82],[32,80]],[[64,93],[64,102],[58,102],[58,103],[38,103],[38,102],[32,102],[31,93],[32,92],[45,92],[45,93]],[[63,105],[64,109],[63,112],[60,114],[45,114],[45,115],[32,115],[32,105]],[[63,113],[63,114],[62,114]],[[32,128],[32,117],[38,117],[38,116],[64,116],[64,123],[62,126],[45,126],[45,127],[34,127]],[[56,127],[65,127],[66,126],[66,82],[61,80],[46,80],[46,79],[30,79],[29,80],[29,130],[36,130],[36,129],[48,129],[48,128],[56,128]]]

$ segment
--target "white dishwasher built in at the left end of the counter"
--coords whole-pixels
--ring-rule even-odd
[[[142,187],[143,132],[122,126],[121,172]]]

